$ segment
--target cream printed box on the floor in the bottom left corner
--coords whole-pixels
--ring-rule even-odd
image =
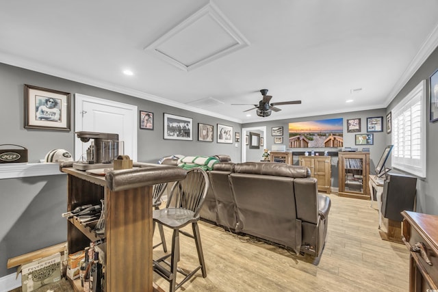
[[[60,252],[21,266],[23,292],[31,292],[59,280],[61,280]]]

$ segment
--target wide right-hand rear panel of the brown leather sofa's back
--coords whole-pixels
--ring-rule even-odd
[[[240,220],[237,232],[299,250],[301,227],[296,220],[294,178],[234,172],[229,181]]]

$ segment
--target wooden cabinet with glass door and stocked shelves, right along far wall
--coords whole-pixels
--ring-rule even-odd
[[[339,152],[339,196],[370,200],[370,152]]]

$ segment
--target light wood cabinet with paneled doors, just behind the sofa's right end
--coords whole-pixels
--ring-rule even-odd
[[[331,157],[330,156],[303,156],[298,157],[300,165],[310,169],[311,177],[318,180],[318,191],[331,193]]]

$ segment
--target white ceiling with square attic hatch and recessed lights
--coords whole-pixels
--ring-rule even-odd
[[[235,122],[298,118],[386,107],[437,47],[437,15],[437,0],[2,1],[0,62]],[[302,103],[244,112],[263,88]]]

